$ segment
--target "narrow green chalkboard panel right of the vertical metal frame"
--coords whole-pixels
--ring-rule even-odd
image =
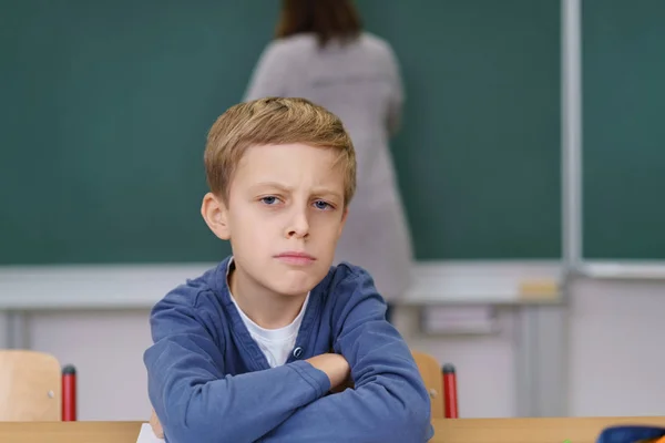
[[[583,255],[665,259],[665,1],[582,4]]]

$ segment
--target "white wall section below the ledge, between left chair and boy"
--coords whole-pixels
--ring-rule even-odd
[[[79,420],[147,420],[143,351],[150,312],[64,311],[30,317],[31,347],[78,370]]]

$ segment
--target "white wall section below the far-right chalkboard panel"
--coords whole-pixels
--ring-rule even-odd
[[[571,415],[665,415],[665,282],[573,289]]]

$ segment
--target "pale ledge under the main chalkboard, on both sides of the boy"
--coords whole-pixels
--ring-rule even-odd
[[[150,309],[215,264],[0,267],[0,310]],[[419,261],[403,305],[559,301],[557,261]]]

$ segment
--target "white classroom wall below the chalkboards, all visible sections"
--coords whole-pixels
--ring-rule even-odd
[[[569,415],[665,415],[665,282],[583,280],[570,307]],[[32,315],[32,348],[79,368],[81,420],[149,416],[144,349],[146,310],[63,311]],[[417,311],[400,308],[397,323],[409,344],[458,369],[460,415],[515,416],[516,313],[499,312],[501,332],[481,337],[426,337]]]

